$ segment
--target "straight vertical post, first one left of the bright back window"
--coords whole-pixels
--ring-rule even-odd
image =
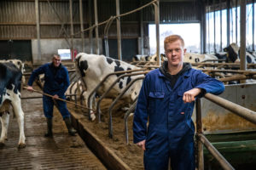
[[[122,60],[122,46],[121,46],[121,26],[120,26],[120,8],[119,0],[115,0],[115,9],[116,9],[116,33],[117,33],[117,44],[118,44],[118,59]]]

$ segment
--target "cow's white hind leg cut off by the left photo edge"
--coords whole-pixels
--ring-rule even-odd
[[[2,133],[0,138],[0,145],[3,145],[5,140],[7,140],[7,132],[8,132],[8,126],[9,126],[9,112],[4,111],[3,113],[0,113],[0,120],[2,124]]]

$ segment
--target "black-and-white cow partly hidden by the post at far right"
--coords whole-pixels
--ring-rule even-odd
[[[228,54],[229,61],[232,63],[239,62],[240,60],[239,50],[240,48],[236,43],[231,43],[228,47],[224,48],[224,51],[227,52]],[[247,63],[252,63],[252,64],[256,63],[255,55],[246,52],[246,57],[247,57]]]

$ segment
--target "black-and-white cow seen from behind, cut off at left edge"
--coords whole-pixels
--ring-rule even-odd
[[[9,126],[9,106],[12,105],[20,128],[19,148],[24,148],[24,112],[21,108],[20,85],[21,71],[10,62],[0,63],[0,120],[2,122],[2,133],[0,144],[7,139]]]

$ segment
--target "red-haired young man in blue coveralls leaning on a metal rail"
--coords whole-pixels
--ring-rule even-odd
[[[166,37],[168,61],[146,75],[138,96],[133,140],[144,150],[146,170],[167,170],[169,158],[172,170],[195,170],[195,98],[224,92],[223,82],[183,63],[185,52],[182,37]]]

